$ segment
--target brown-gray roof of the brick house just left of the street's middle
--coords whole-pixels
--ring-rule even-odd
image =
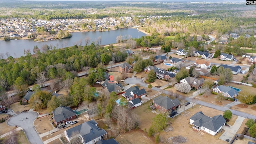
[[[155,104],[158,104],[166,110],[169,110],[170,108],[176,107],[180,104],[178,98],[172,100],[168,96],[158,96],[157,98],[154,98],[153,101]]]

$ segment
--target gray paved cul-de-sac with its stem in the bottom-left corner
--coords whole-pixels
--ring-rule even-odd
[[[21,127],[30,144],[43,144],[42,139],[39,137],[36,129],[34,128],[34,120],[38,117],[37,112],[22,112],[16,116],[12,116],[7,124],[9,126]]]

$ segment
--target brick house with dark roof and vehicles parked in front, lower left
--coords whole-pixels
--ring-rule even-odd
[[[52,119],[56,126],[64,124],[66,121],[76,119],[76,113],[67,106],[59,106],[52,112]]]

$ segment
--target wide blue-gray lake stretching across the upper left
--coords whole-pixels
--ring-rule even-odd
[[[116,43],[117,36],[124,36],[125,38],[140,38],[141,36],[146,36],[143,32],[139,32],[135,28],[128,29],[119,29],[119,30],[110,30],[105,32],[73,32],[71,33],[71,38],[53,40],[47,42],[34,42],[33,40],[10,40],[10,41],[0,41],[0,54],[4,54],[5,58],[6,52],[9,52],[10,56],[17,58],[24,56],[24,50],[30,50],[31,54],[33,53],[34,46],[38,46],[41,50],[44,44],[48,46],[56,46],[57,48],[64,48],[68,46],[85,45],[85,38],[90,38],[90,43],[98,40],[98,37],[101,37],[100,45],[114,44]]]

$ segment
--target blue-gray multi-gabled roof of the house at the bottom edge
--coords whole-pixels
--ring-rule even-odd
[[[73,128],[70,128],[66,130],[66,133],[69,138],[71,138],[73,134],[80,134],[80,136],[82,136],[82,138],[84,139],[84,143],[90,142],[91,140],[107,134],[104,129],[101,129],[97,126],[97,122],[95,122],[94,120],[90,120]]]

